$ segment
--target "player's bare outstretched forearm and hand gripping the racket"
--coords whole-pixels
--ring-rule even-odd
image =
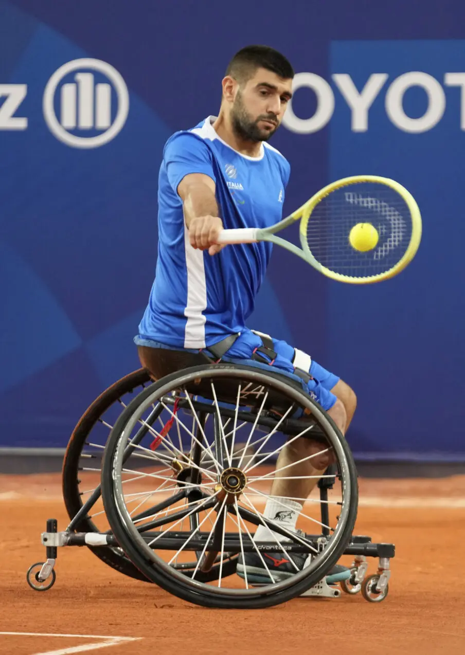
[[[189,242],[193,248],[206,250],[210,255],[219,252],[216,244],[223,221],[219,217],[215,198],[215,182],[203,173],[186,175],[177,187],[183,201],[184,220],[189,230]]]

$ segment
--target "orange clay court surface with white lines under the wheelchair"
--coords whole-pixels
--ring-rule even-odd
[[[46,519],[67,524],[60,476],[0,476],[0,633],[68,635],[0,634],[0,653],[463,654],[465,477],[360,479],[360,496],[356,533],[396,544],[384,602],[343,594],[208,610],[122,576],[86,548],[59,549],[55,586],[33,591],[26,571],[45,558]]]

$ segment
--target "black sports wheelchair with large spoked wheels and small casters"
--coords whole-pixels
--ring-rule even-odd
[[[337,597],[341,588],[382,601],[394,545],[352,534],[356,467],[331,417],[269,365],[191,363],[157,381],[145,369],[134,371],[88,407],[64,457],[70,523],[58,531],[56,519],[48,519],[41,535],[47,561],[29,568],[29,586],[52,587],[59,547],[87,546],[122,574],[204,607],[270,607],[297,596]],[[318,446],[314,452],[290,464],[281,458],[276,468],[286,444],[308,439]],[[265,517],[276,474],[293,480],[293,488],[299,479],[308,483],[312,476],[299,464],[329,451],[335,464],[313,476],[319,497],[313,492],[303,503],[297,533]],[[260,525],[267,540],[254,539]],[[236,572],[248,553],[262,572],[259,582],[248,567]],[[303,568],[290,565],[295,571],[279,575],[271,562],[286,553],[307,558]],[[350,578],[327,584],[343,554],[354,556]],[[378,558],[369,577],[367,557]]]

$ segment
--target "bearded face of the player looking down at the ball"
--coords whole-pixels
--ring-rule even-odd
[[[248,141],[268,141],[280,126],[291,86],[291,79],[257,68],[242,88],[237,86],[231,107],[234,132]]]

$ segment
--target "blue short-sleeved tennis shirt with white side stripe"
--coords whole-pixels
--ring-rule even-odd
[[[190,173],[212,178],[224,227],[238,228],[278,223],[289,180],[278,150],[262,143],[258,157],[242,155],[217,136],[214,121],[176,132],[158,177],[157,269],[139,335],[177,348],[205,348],[246,330],[272,250],[266,242],[226,246],[213,256],[192,248],[179,183]]]

